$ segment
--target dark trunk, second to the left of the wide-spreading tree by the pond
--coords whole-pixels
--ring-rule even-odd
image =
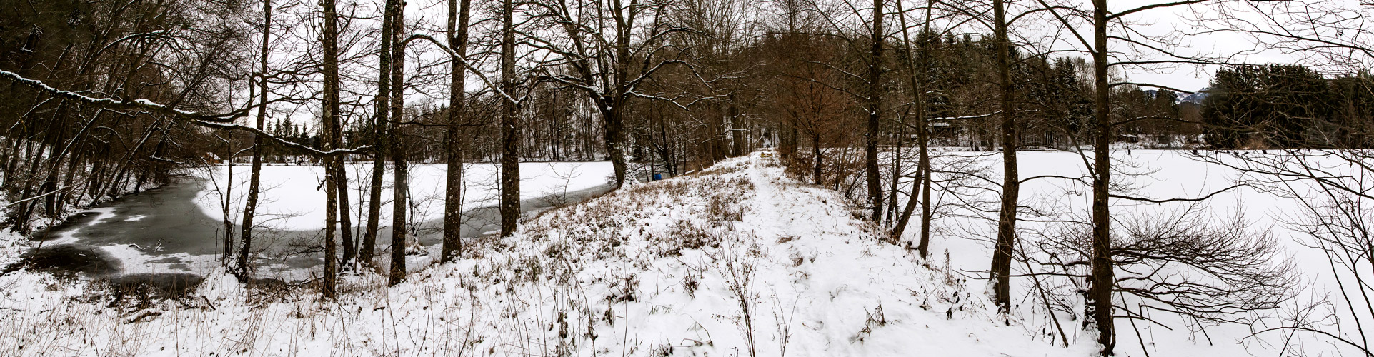
[[[462,4],[459,4],[462,3]],[[448,177],[444,181],[444,250],[440,262],[451,262],[463,250],[463,152],[458,140],[463,126],[463,111],[466,110],[463,88],[467,78],[463,77],[467,60],[467,14],[471,0],[448,0],[448,45],[453,48],[458,58],[453,58],[449,71],[448,93],[448,133],[444,136],[445,158],[448,162]]]

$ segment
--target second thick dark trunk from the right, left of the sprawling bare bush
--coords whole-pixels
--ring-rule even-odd
[[[998,244],[992,251],[993,302],[998,310],[1011,309],[1011,260],[1017,239],[1017,200],[1021,194],[1017,173],[1017,119],[1011,107],[1011,43],[1007,37],[1004,0],[992,1],[993,36],[998,41],[998,87],[1002,91],[1002,209],[998,214]]]

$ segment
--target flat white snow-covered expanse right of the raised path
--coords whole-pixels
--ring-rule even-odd
[[[949,192],[941,192],[937,189],[934,192],[937,202],[944,203],[937,209],[938,214],[933,227],[932,239],[932,255],[941,257],[945,251],[952,258],[952,270],[960,272],[969,276],[985,276],[985,272],[991,266],[991,251],[993,239],[996,236],[996,209],[1000,188],[992,183],[1000,183],[1002,177],[1002,154],[1000,152],[945,152],[936,161],[936,170],[947,172],[970,172],[981,177],[992,178],[992,181],[985,181],[982,178],[962,177],[955,181],[945,181],[941,185],[949,188],[949,185],[966,184],[965,188],[958,188]],[[1087,152],[1091,155],[1091,152]],[[1201,155],[1210,155],[1210,159],[1234,161],[1230,154],[1216,154],[1208,151],[1198,151]],[[1238,155],[1267,155],[1263,152],[1241,152]],[[1294,291],[1293,298],[1282,303],[1283,309],[1267,310],[1259,314],[1250,316],[1249,313],[1239,313],[1235,317],[1252,319],[1254,324],[1216,324],[1208,321],[1197,321],[1193,319],[1182,319],[1175,314],[1168,314],[1162,312],[1147,312],[1149,317],[1162,323],[1150,324],[1143,320],[1132,321],[1131,319],[1117,319],[1117,343],[1116,350],[1118,354],[1128,356],[1289,356],[1282,353],[1285,349],[1294,349],[1304,352],[1305,356],[1362,356],[1363,353],[1352,349],[1351,346],[1344,346],[1340,343],[1331,343],[1330,339],[1325,336],[1318,336],[1315,334],[1294,334],[1293,331],[1268,331],[1256,335],[1254,332],[1275,328],[1285,321],[1276,317],[1292,317],[1303,306],[1311,306],[1315,302],[1327,301],[1345,309],[1344,303],[1353,303],[1356,309],[1364,309],[1363,302],[1355,299],[1352,302],[1341,301],[1338,291],[1340,287],[1334,276],[1331,275],[1329,260],[1319,250],[1311,249],[1311,238],[1293,232],[1289,222],[1297,220],[1303,216],[1301,203],[1294,199],[1279,198],[1268,192],[1257,192],[1249,187],[1239,187],[1228,189],[1238,183],[1238,180],[1245,180],[1248,177],[1241,176],[1237,170],[1224,168],[1216,163],[1209,163],[1200,161],[1191,151],[1172,151],[1172,150],[1116,150],[1112,155],[1114,161],[1113,181],[1117,184],[1113,187],[1113,194],[1131,195],[1149,199],[1178,199],[1178,198],[1202,198],[1212,195],[1216,191],[1220,194],[1212,195],[1209,199],[1202,202],[1169,202],[1169,203],[1150,203],[1150,202],[1131,202],[1123,199],[1113,200],[1113,229],[1124,229],[1127,225],[1150,224],[1151,220],[1158,217],[1167,217],[1171,214],[1182,214],[1187,210],[1194,210],[1201,214],[1198,221],[1216,227],[1226,227],[1230,218],[1241,217],[1248,224],[1242,227],[1246,233],[1252,236],[1260,236],[1268,233],[1282,251],[1274,257],[1272,265],[1292,265],[1292,276],[1297,277],[1298,286]],[[1087,158],[1091,161],[1091,157]],[[1087,180],[1076,181],[1069,178],[1081,178],[1087,173],[1085,158],[1077,152],[1057,152],[1057,151],[1021,151],[1018,152],[1018,168],[1022,180],[1029,177],[1039,177],[1025,181],[1021,191],[1020,203],[1022,206],[1022,213],[1018,217],[1018,231],[1020,239],[1024,244],[1021,249],[1033,247],[1033,242],[1046,239],[1073,239],[1073,235],[1083,235],[1084,231],[1073,232],[1063,231],[1062,227],[1074,225],[1065,224],[1063,221],[1085,222],[1090,217],[1088,209],[1092,200],[1091,188],[1085,184]],[[911,163],[908,163],[911,165]],[[1333,166],[1323,163],[1322,166]],[[1358,168],[1347,168],[1351,170]],[[1341,169],[1336,169],[1341,170]],[[954,178],[949,174],[937,174],[937,178]],[[1254,178],[1254,177],[1249,177]],[[1355,177],[1352,180],[1360,180]],[[1367,180],[1367,178],[1366,178]],[[1304,183],[1292,183],[1294,189],[1307,191],[1309,189]],[[904,185],[904,191],[910,188]],[[1315,194],[1312,194],[1315,195]],[[984,210],[973,210],[970,205],[978,206]],[[1032,214],[1036,211],[1039,214]],[[1062,221],[1061,221],[1062,220]],[[1081,228],[1081,227],[1080,227]],[[918,225],[912,225],[905,235],[904,240],[914,240],[916,238]],[[1037,269],[1043,270],[1043,269]],[[1028,272],[1026,265],[1017,262],[1013,265],[1013,275],[1024,275]],[[1171,270],[1164,270],[1171,272]],[[1205,276],[1200,275],[1182,275],[1182,279],[1191,281],[1202,281]],[[1061,280],[1062,281],[1062,280]],[[1052,339],[1057,335],[1054,321],[1041,309],[1041,297],[1036,294],[1033,288],[1036,281],[1029,277],[1013,279],[1013,305],[1017,306],[1013,314],[1022,319],[1028,330],[1037,331],[1039,335],[1046,335],[1046,339]],[[1351,290],[1347,281],[1347,288]],[[970,284],[976,295],[985,294],[987,286],[984,284]],[[1364,287],[1367,294],[1374,294],[1374,288]],[[1358,297],[1358,290],[1351,290],[1353,297]],[[1136,306],[1139,301],[1131,301],[1131,306]],[[1345,324],[1345,331],[1337,331],[1334,325],[1314,325],[1315,328],[1322,328],[1333,334],[1344,334],[1345,338],[1359,341],[1360,332],[1353,328],[1352,317],[1344,314],[1342,310],[1337,310],[1340,316],[1330,316],[1318,320],[1325,323],[1333,323],[1333,319],[1341,319]],[[1081,312],[1081,309],[1077,309]],[[1142,309],[1145,310],[1145,309]],[[1316,309],[1309,313],[1315,313]],[[1325,312],[1325,310],[1323,310]],[[1070,320],[1074,316],[1059,313],[1057,316],[1059,324],[1068,330],[1070,339],[1088,339],[1079,327],[1081,321]],[[1256,319],[1263,317],[1263,319]],[[1077,332],[1077,336],[1074,335]],[[1011,354],[1021,356],[1021,354]]]

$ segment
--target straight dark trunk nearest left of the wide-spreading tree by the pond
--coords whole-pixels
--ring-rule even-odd
[[[502,236],[519,220],[519,124],[515,118],[515,27],[511,0],[502,1]],[[609,125],[607,125],[609,126]]]

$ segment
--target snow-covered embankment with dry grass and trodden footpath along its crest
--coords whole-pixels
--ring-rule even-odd
[[[837,194],[767,159],[544,214],[455,264],[338,301],[264,298],[223,273],[194,299],[104,309],[51,276],[0,277],[0,350],[70,356],[1085,356],[965,291],[941,257],[877,239]]]

